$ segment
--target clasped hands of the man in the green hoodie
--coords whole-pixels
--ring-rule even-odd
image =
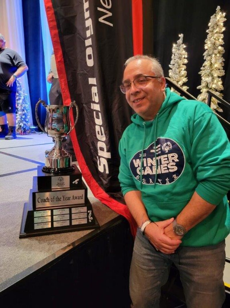
[[[174,218],[164,221],[156,221],[145,228],[145,235],[150,243],[162,253],[170,254],[182,243],[182,236],[175,234],[173,231],[172,222]]]

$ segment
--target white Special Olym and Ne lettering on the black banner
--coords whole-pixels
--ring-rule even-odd
[[[94,65],[93,61],[93,50],[92,50],[92,35],[93,35],[93,26],[92,26],[92,19],[90,18],[90,13],[89,13],[89,3],[88,0],[83,0],[84,2],[84,16],[85,16],[85,27],[86,27],[86,37],[87,39],[85,40],[85,54],[86,54],[86,63],[88,67],[92,67]],[[101,0],[101,4],[106,8],[110,9],[112,6],[111,0]],[[113,26],[112,23],[108,22],[107,20],[104,20],[107,17],[112,16],[112,13],[110,13],[107,10],[104,10],[102,8],[97,8],[99,11],[105,12],[107,15],[102,16],[99,18],[100,22],[104,22],[105,24],[108,24],[109,26]],[[96,78],[88,78],[88,83],[89,85],[92,85],[91,87],[91,92],[92,92],[92,103],[91,103],[91,108],[93,110],[93,117],[94,117],[94,122],[95,122],[95,131],[96,131],[96,136],[97,136],[97,151],[98,151],[98,156],[97,156],[97,166],[98,170],[100,172],[105,172],[109,173],[109,167],[108,167],[108,158],[111,158],[110,152],[107,152],[105,140],[105,132],[104,132],[104,127],[103,122],[102,122],[102,116],[101,116],[101,110],[100,110],[100,105],[98,104],[99,102],[99,97],[97,93],[97,80]]]

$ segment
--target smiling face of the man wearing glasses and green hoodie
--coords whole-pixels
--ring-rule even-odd
[[[149,59],[131,61],[125,68],[123,82],[133,81],[140,76],[156,76],[151,67]],[[164,77],[147,78],[146,86],[141,89],[131,83],[131,88],[125,93],[125,97],[130,107],[144,120],[153,120],[165,99],[164,89]]]

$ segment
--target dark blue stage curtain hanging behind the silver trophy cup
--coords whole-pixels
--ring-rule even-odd
[[[34,125],[37,125],[37,121],[35,119],[35,105],[39,98],[47,102],[40,4],[39,0],[23,0],[22,5],[26,63],[29,67],[27,75],[31,99],[31,110],[33,123]],[[46,110],[41,106],[41,104],[38,109],[38,116],[40,123],[44,125]]]

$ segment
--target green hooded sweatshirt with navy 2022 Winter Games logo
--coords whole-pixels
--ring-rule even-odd
[[[230,144],[205,104],[166,88],[152,121],[132,115],[120,140],[123,195],[140,190],[151,221],[177,217],[196,191],[214,211],[182,238],[183,246],[214,245],[230,231]]]

